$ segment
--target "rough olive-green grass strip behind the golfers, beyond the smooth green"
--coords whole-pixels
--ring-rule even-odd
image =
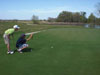
[[[52,28],[81,28],[82,26],[70,26],[70,25],[28,25],[27,23],[21,22],[0,22],[0,35],[4,33],[4,31],[8,28],[12,28],[13,25],[19,25],[19,32],[33,32],[38,30],[52,29]]]

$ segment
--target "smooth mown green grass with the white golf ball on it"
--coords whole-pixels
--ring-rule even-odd
[[[23,54],[7,55],[0,39],[0,75],[100,75],[100,29],[48,29],[35,34],[32,51]]]

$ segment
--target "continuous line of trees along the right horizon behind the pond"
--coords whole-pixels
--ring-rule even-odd
[[[70,12],[70,11],[62,11],[57,18],[49,17],[48,21],[100,24],[100,18],[97,18],[93,13],[91,13],[87,18],[86,12]]]

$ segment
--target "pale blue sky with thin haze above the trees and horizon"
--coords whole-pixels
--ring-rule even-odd
[[[0,0],[0,19],[31,20],[56,18],[62,11],[95,13],[100,0]]]

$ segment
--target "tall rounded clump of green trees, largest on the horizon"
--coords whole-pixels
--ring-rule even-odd
[[[63,11],[57,17],[58,22],[82,22],[86,23],[86,12],[69,12]]]

